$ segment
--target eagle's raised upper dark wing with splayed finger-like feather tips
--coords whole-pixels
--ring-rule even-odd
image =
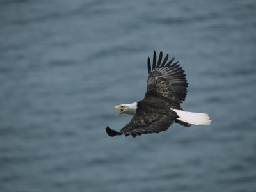
[[[156,51],[153,55],[153,63],[151,68],[150,58],[148,58],[148,80],[147,92],[144,99],[148,97],[164,97],[180,104],[186,99],[188,82],[186,74],[178,62],[173,63],[170,60],[167,64],[168,54],[161,63],[163,57],[162,51],[159,54],[156,63]]]

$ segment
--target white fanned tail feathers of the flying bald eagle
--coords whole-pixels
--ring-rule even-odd
[[[210,125],[211,120],[208,114],[206,113],[193,113],[193,112],[188,112],[188,111],[182,111],[182,110],[177,110],[177,109],[172,109],[172,111],[175,111],[179,118],[178,120],[182,122],[186,122],[188,124],[193,124],[193,125]]]

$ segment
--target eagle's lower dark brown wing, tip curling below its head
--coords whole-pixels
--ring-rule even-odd
[[[106,127],[106,132],[109,136],[124,134],[125,136],[132,135],[134,138],[137,135],[147,133],[159,133],[166,131],[175,121],[175,115],[161,115],[157,113],[136,113],[129,124],[125,125],[120,132],[117,132],[109,127]]]

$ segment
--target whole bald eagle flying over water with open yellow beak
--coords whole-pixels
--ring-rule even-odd
[[[134,116],[119,132],[106,127],[109,136],[124,134],[136,137],[141,134],[159,133],[166,131],[173,122],[185,127],[190,127],[191,124],[211,124],[208,114],[183,111],[180,108],[180,104],[184,102],[187,95],[186,74],[178,65],[179,61],[172,64],[174,58],[168,61],[167,54],[161,62],[162,57],[161,51],[157,60],[156,51],[154,51],[152,66],[148,57],[147,92],[144,99],[114,107],[114,109],[120,109],[116,116],[122,113]]]

